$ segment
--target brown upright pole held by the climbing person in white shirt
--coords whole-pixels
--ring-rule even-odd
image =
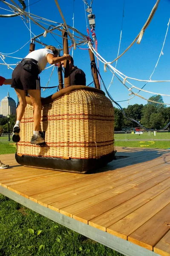
[[[62,30],[63,38],[63,53],[69,54],[69,45],[67,39],[67,32],[65,29]],[[69,61],[64,61],[64,87],[70,86],[70,68],[69,68]]]

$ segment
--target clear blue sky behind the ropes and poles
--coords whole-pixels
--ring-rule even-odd
[[[8,0],[9,3],[12,3]],[[35,3],[36,0],[29,0],[30,12],[41,17],[45,17],[50,20],[62,23],[63,20],[57,9],[54,0],[49,0],[48,4],[45,0],[40,0]],[[90,1],[87,0],[89,3]],[[16,3],[18,1],[16,0]],[[28,6],[28,0],[25,1]],[[33,4],[35,3],[35,4]],[[65,17],[66,23],[72,26],[73,17],[73,0],[58,0],[58,3]],[[95,32],[98,39],[98,53],[107,61],[112,61],[117,57],[118,45],[120,40],[121,22],[123,13],[124,0],[93,0],[92,13],[95,14]],[[150,12],[155,5],[156,0],[125,0],[124,4],[124,19],[122,29],[122,39],[120,46],[120,53],[122,53],[135,39],[138,33],[141,31],[142,26],[146,22]],[[87,6],[86,6],[87,7]],[[0,8],[9,9],[5,3],[0,2]],[[161,52],[161,48],[164,42],[164,36],[167,31],[167,23],[170,18],[170,0],[160,0],[158,9],[151,21],[150,25],[144,32],[144,36],[141,40],[141,44],[134,44],[119,60],[117,69],[127,76],[137,79],[149,79],[153,69],[158,60],[158,56]],[[28,11],[28,7],[26,8]],[[9,12],[0,9],[0,14],[9,14]],[[87,13],[86,13],[87,14]],[[23,18],[24,20],[25,18]],[[30,40],[30,32],[23,23],[21,17],[12,18],[0,18],[0,52],[11,53],[17,51],[26,42]],[[83,0],[75,0],[74,2],[74,21],[75,28],[86,35],[86,18],[84,11]],[[88,21],[87,21],[88,22]],[[35,35],[38,35],[43,31],[40,27],[31,23],[31,30]],[[59,32],[60,33],[60,32]],[[33,37],[33,35],[32,35]],[[60,37],[55,36],[55,39],[62,43]],[[40,40],[45,44],[52,44],[58,47],[59,43],[55,40],[52,35],[47,34],[46,38],[41,37]],[[170,80],[170,31],[167,33],[167,39],[165,41],[163,55],[158,62],[158,66],[155,73],[152,76],[152,80]],[[41,45],[36,43],[36,49],[40,49]],[[85,45],[83,48],[87,48]],[[24,58],[29,52],[29,44],[26,44],[21,50],[16,53],[9,55],[17,58]],[[72,52],[72,51],[71,51]],[[74,61],[75,65],[80,67],[86,73],[87,84],[92,81],[90,71],[89,54],[87,50],[76,49],[74,50]],[[17,59],[5,58],[6,63],[16,64]],[[3,61],[0,59],[0,63]],[[114,66],[115,64],[113,64]],[[12,66],[11,66],[12,67]],[[13,66],[14,67],[14,66]],[[106,84],[109,86],[112,79],[112,73],[109,70],[104,72],[104,64],[99,64],[101,76]],[[49,76],[51,75],[52,68],[43,71],[40,75],[41,86],[46,86]],[[8,69],[7,66],[0,65],[0,76],[5,78],[11,78],[12,70]],[[144,82],[130,81],[137,87],[142,87]],[[50,86],[58,85],[58,75],[56,71],[53,73],[52,78],[49,82]],[[148,83],[145,90],[153,91],[155,93],[170,94],[170,82],[167,83]],[[17,97],[10,86],[3,85],[0,87],[0,101],[9,90],[10,96],[16,101]],[[137,90],[134,90],[137,92]],[[123,101],[129,99],[129,91],[121,84],[118,79],[113,79],[113,84],[109,88],[109,93],[112,95],[115,101]],[[140,93],[141,96],[149,98],[153,94]],[[170,103],[169,97],[163,96],[165,103]],[[146,104],[147,101],[140,99],[135,96],[129,101],[130,105],[135,103]],[[128,102],[120,102],[122,107],[127,107]]]

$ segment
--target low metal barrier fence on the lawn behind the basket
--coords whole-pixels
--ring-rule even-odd
[[[135,131],[115,131],[115,140],[170,140],[170,131],[144,131],[135,133]],[[0,143],[12,143],[12,134],[0,134]]]

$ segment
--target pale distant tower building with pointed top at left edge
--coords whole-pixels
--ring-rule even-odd
[[[16,102],[9,96],[8,92],[8,96],[1,100],[0,114],[3,116],[16,114],[16,109]]]

